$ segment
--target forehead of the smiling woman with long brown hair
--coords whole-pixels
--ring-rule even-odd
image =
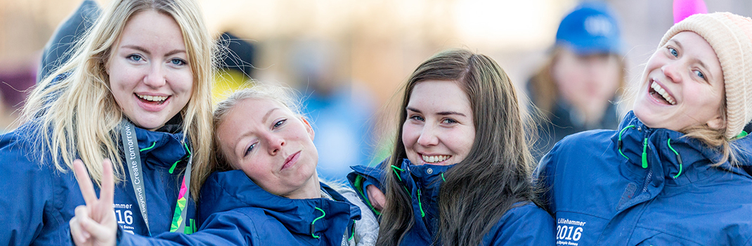
[[[470,99],[453,80],[423,80],[415,84],[408,107],[469,112]]]

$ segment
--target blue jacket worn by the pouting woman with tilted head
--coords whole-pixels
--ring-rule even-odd
[[[287,199],[263,190],[242,170],[215,172],[202,187],[193,235],[123,234],[120,245],[341,245],[360,209],[321,183],[332,199]],[[349,239],[349,238],[348,238]]]

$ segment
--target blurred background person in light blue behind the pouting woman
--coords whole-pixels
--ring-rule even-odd
[[[350,166],[371,161],[374,99],[371,92],[336,76],[341,56],[326,41],[301,41],[293,49],[293,69],[303,93],[303,113],[316,129],[319,175],[343,180]]]

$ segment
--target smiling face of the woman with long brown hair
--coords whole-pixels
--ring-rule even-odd
[[[425,80],[410,94],[402,143],[415,165],[451,165],[470,153],[475,141],[470,99],[455,81]]]

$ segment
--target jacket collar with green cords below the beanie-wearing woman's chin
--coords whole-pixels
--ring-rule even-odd
[[[714,169],[712,164],[721,158],[716,150],[694,138],[685,138],[681,132],[645,126],[632,111],[626,114],[612,140],[620,152],[617,158],[623,159],[627,170],[638,174],[641,173],[640,170],[644,172],[645,169],[650,169],[656,177],[653,182],[665,179],[669,184],[681,185],[708,178],[712,172],[705,171]],[[732,142],[742,147],[752,146],[752,138]],[[738,156],[741,159],[752,159],[748,152],[738,151]],[[740,163],[741,166],[734,167],[729,162],[724,162],[718,168],[749,177],[749,171],[752,170],[750,163]]]

